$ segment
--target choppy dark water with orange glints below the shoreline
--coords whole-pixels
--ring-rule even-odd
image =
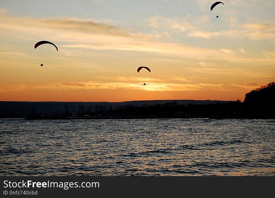
[[[0,119],[0,175],[275,175],[274,119]]]

